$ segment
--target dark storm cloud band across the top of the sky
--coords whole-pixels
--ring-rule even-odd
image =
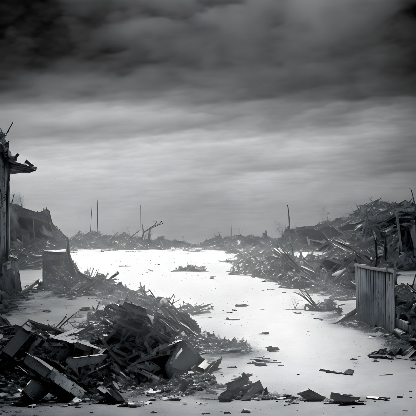
[[[2,87],[85,99],[168,90],[204,100],[413,94],[415,5],[3,0]]]

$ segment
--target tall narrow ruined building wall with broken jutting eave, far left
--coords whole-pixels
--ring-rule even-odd
[[[0,290],[9,292],[21,290],[17,258],[10,253],[10,174],[30,173],[37,168],[27,160],[16,161],[19,154],[12,156],[6,135],[0,129]]]

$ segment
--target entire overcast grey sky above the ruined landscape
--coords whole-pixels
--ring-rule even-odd
[[[193,243],[410,199],[415,39],[414,0],[1,0],[11,191]]]

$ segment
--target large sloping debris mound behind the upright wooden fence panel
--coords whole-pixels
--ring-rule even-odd
[[[265,277],[284,287],[354,288],[355,263],[416,267],[415,216],[413,202],[371,201],[347,217],[287,228],[269,244],[241,248],[230,274]]]

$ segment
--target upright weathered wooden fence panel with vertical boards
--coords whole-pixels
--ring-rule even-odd
[[[360,321],[393,332],[394,280],[393,269],[355,265],[357,318]]]

